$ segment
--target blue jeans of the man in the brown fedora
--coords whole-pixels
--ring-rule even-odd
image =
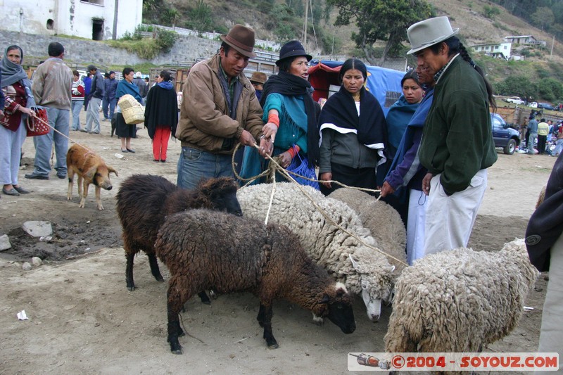
[[[196,148],[182,147],[178,158],[176,184],[193,190],[201,179],[210,177],[234,177],[232,155],[209,153]]]

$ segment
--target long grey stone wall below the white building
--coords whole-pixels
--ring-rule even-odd
[[[24,34],[21,32],[0,32],[0,51],[11,44],[23,49],[24,65],[37,65],[47,58],[47,46],[51,42],[60,42],[65,46],[65,61],[71,68],[84,68],[88,64],[105,70],[108,65],[134,65],[153,63],[155,65],[186,65],[198,58],[208,58],[217,52],[220,42],[198,37],[178,37],[170,53],[157,56],[151,61],[139,58],[135,53],[125,49],[115,49],[104,44],[84,39],[67,39],[48,35]]]

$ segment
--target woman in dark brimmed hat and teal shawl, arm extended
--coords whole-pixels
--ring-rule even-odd
[[[284,168],[292,162],[296,165],[300,160],[308,160],[312,170],[319,159],[317,117],[320,106],[313,101],[313,89],[307,80],[311,58],[300,42],[293,40],[284,44],[276,61],[279,73],[267,80],[260,99],[264,109],[262,120],[266,123],[263,134],[272,139],[272,155],[278,156],[278,163]],[[258,153],[245,151],[241,176],[253,177],[266,166],[267,162],[259,158]],[[318,189],[318,184],[316,187]]]

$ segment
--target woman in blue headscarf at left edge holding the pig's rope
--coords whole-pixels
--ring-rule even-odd
[[[2,192],[10,196],[29,193],[18,185],[21,148],[27,129],[27,116],[33,115],[35,101],[31,82],[22,68],[23,51],[19,46],[9,46],[0,62],[1,89],[5,103],[0,108],[0,182]]]

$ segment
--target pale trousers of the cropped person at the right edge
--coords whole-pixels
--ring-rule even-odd
[[[563,235],[555,241],[551,250],[550,281],[545,294],[541,317],[540,346],[538,352],[558,352],[559,371],[563,370]],[[552,371],[536,371],[536,374],[556,374]]]

